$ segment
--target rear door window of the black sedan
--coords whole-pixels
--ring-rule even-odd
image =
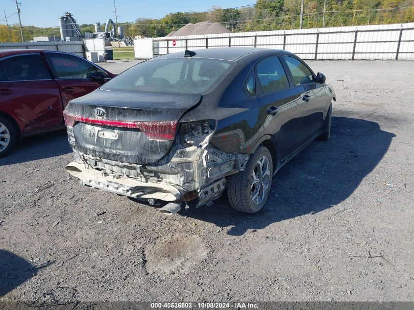
[[[257,65],[257,76],[263,93],[270,94],[289,87],[288,78],[279,58],[269,57]]]

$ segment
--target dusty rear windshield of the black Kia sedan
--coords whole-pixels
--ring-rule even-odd
[[[101,89],[202,95],[214,89],[232,68],[232,62],[216,59],[154,59],[122,72]]]

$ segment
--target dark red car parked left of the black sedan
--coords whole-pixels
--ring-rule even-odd
[[[0,157],[18,139],[64,129],[68,102],[115,75],[75,54],[0,49]]]

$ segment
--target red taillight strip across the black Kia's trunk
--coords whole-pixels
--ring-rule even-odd
[[[140,129],[148,139],[172,140],[177,128],[176,121],[130,121],[130,120],[109,120],[109,119],[91,119],[80,115],[74,115],[63,111],[63,118],[68,127],[73,127],[74,123],[79,121],[102,126],[114,126],[124,128]]]

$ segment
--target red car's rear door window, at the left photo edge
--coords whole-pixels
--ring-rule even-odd
[[[39,54],[14,56],[1,60],[0,71],[2,81],[51,79]]]

